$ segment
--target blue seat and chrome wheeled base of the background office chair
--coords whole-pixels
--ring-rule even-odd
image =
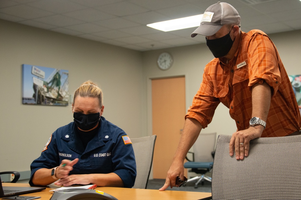
[[[189,172],[194,172],[197,174],[201,174],[200,176],[190,178],[187,182],[195,181],[197,182],[194,184],[194,188],[197,188],[197,185],[202,181],[204,184],[204,180],[211,182],[211,177],[206,176],[207,172],[210,172],[213,167],[213,162],[186,162],[184,163],[184,168],[191,168]]]

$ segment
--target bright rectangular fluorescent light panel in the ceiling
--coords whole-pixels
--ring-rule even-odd
[[[147,24],[148,27],[158,29],[160,31],[174,31],[184,28],[191,28],[200,25],[203,14],[179,19],[172,19],[164,22],[156,22]]]

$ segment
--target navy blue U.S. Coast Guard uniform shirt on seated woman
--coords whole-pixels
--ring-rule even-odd
[[[124,187],[133,187],[137,174],[136,162],[132,143],[126,133],[101,117],[98,133],[84,148],[76,129],[76,124],[71,122],[52,133],[41,156],[30,165],[29,184],[33,186],[32,178],[38,169],[52,169],[64,159],[79,158],[69,175],[114,172],[122,179]]]

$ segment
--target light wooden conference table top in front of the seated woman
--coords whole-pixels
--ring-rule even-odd
[[[3,186],[16,186],[16,187],[29,187],[26,183],[2,183]],[[46,190],[36,193],[29,193],[20,196],[40,196],[37,200],[49,200],[53,194],[50,190],[58,188],[56,185],[49,185]],[[118,200],[198,200],[206,197],[210,197],[211,193],[203,192],[187,192],[176,190],[149,190],[149,189],[133,189],[133,188],[119,188],[119,187],[97,187],[95,190],[99,190],[108,193]]]

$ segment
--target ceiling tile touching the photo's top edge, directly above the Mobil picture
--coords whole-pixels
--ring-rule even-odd
[[[40,0],[27,3],[27,5],[36,7],[42,10],[47,10],[57,14],[71,12],[75,10],[82,10],[87,8],[86,6],[80,4],[74,4],[70,1],[61,1],[61,0]]]

